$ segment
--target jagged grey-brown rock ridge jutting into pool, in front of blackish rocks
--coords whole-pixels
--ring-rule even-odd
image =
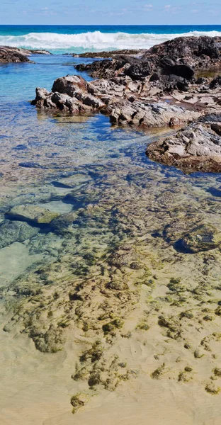
[[[156,91],[155,91],[156,93]],[[69,113],[101,111],[111,123],[141,127],[179,125],[199,117],[198,111],[148,98],[151,87],[130,77],[98,79],[87,83],[82,77],[67,76],[55,80],[52,91],[36,89],[32,102],[37,108],[60,109]]]

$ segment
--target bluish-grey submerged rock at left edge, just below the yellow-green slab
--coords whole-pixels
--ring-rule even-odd
[[[13,242],[23,242],[38,234],[39,229],[26,222],[4,220],[0,223],[0,249]]]

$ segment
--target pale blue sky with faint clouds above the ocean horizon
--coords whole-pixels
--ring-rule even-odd
[[[4,24],[219,25],[221,1],[1,0]]]

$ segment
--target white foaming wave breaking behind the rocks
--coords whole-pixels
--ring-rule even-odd
[[[26,35],[1,35],[0,45],[26,47],[27,49],[57,50],[60,52],[99,52],[112,49],[149,49],[149,47],[166,40],[191,35],[196,37],[199,35],[221,37],[221,32],[191,31],[182,34],[101,33],[100,31],[81,34],[29,33]]]

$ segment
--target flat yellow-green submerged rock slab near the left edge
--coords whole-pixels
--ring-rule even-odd
[[[14,220],[24,220],[27,222],[35,222],[38,224],[48,224],[55,218],[59,217],[59,213],[52,212],[38,205],[18,205],[11,208],[8,216]]]

